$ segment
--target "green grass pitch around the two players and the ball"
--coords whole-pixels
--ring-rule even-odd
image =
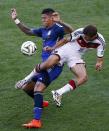
[[[21,125],[31,120],[33,101],[15,82],[26,76],[41,61],[41,39],[23,34],[10,17],[15,7],[19,19],[30,27],[41,25],[40,12],[52,7],[74,29],[95,24],[107,46],[104,67],[95,71],[96,51],[85,55],[88,82],[65,94],[62,108],[56,108],[51,90],[63,86],[73,77],[67,66],[62,75],[45,91],[50,106],[44,109],[40,131],[109,131],[109,0],[0,0],[0,131],[25,131]],[[38,51],[32,57],[21,54],[22,42],[37,41]]]

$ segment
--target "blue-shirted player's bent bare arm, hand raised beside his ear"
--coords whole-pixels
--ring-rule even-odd
[[[53,19],[55,22],[59,23],[60,25],[64,27],[65,34],[69,34],[74,31],[74,29],[68,23],[65,23],[64,21],[60,19],[60,15],[58,12],[53,13]]]

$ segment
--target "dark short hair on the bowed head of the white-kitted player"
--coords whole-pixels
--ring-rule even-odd
[[[93,37],[95,35],[97,35],[97,28],[94,25],[88,25],[84,28],[83,30],[83,34],[87,35],[89,37]]]

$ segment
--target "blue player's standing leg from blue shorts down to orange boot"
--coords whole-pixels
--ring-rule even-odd
[[[24,124],[24,127],[27,128],[40,128],[41,127],[41,115],[43,110],[43,91],[46,87],[55,80],[60,73],[62,72],[63,66],[54,66],[50,71],[43,71],[38,75],[37,83],[34,88],[34,119],[27,124]],[[35,81],[35,79],[33,79]]]

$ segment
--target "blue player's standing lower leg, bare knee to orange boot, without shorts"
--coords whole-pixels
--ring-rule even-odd
[[[34,88],[34,118],[31,122],[27,124],[23,124],[26,128],[40,128],[42,126],[41,123],[41,115],[43,111],[43,91],[46,88],[45,84],[41,82],[37,82]]]

